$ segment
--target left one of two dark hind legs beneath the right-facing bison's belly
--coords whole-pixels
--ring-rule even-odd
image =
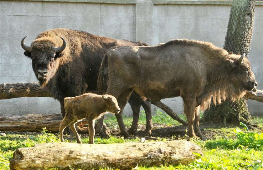
[[[128,130],[128,133],[134,135],[137,133],[139,114],[141,108],[140,101],[135,95],[135,92],[131,93],[131,97],[129,98],[129,104],[131,105],[133,119],[132,119],[131,128]]]

